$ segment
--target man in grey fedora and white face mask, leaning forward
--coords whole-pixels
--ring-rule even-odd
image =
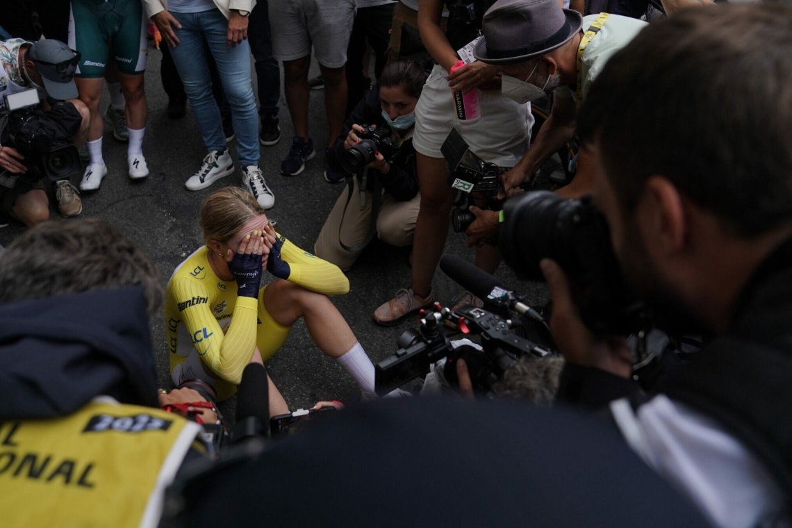
[[[588,87],[611,55],[646,23],[607,13],[581,17],[562,9],[556,0],[499,0],[485,13],[482,26],[484,38],[474,57],[500,66],[505,97],[523,103],[547,92],[554,97],[550,118],[533,145],[504,175],[505,192],[513,196],[546,158],[572,138],[577,108]],[[583,195],[591,188],[590,176],[583,166],[559,194]]]

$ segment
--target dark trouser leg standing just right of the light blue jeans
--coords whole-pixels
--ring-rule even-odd
[[[250,12],[248,40],[256,59],[258,114],[262,118],[278,116],[280,101],[280,67],[272,56],[272,33],[269,28],[267,0],[258,0]]]

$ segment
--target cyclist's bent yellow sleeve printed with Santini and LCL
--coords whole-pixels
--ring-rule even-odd
[[[258,299],[238,297],[228,332],[223,334],[207,302],[208,292],[200,283],[173,277],[169,288],[203,362],[219,378],[238,385],[256,348]]]

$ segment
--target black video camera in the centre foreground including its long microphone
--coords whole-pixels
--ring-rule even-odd
[[[455,256],[444,256],[440,268],[474,294],[485,298],[494,310],[505,313],[529,313],[531,309],[497,284],[492,275]],[[538,314],[537,314],[538,315]],[[534,317],[534,316],[530,316]],[[483,352],[469,345],[454,346],[441,332],[444,321],[452,321],[463,332],[481,337]],[[418,330],[409,329],[398,339],[398,350],[375,366],[375,391],[389,393],[406,382],[428,374],[433,363],[446,358],[444,378],[457,385],[456,360],[464,359],[474,388],[489,391],[503,377],[505,370],[520,357],[531,354],[545,357],[550,348],[517,336],[512,320],[476,306],[451,311],[436,302],[433,309],[422,312]]]

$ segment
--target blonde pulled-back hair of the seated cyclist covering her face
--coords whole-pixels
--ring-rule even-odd
[[[264,208],[244,189],[224,187],[212,192],[200,208],[204,242],[208,245],[210,240],[216,240],[227,244],[242,226],[264,214]]]

